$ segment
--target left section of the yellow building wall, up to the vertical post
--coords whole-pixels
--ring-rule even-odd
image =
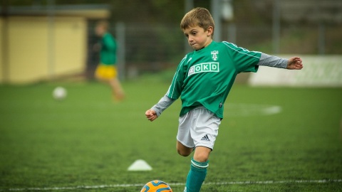
[[[48,77],[46,18],[9,18],[8,82],[32,82]]]

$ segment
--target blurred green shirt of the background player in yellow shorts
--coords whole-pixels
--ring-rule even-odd
[[[116,43],[110,33],[105,33],[101,39],[100,61],[105,65],[116,63]]]

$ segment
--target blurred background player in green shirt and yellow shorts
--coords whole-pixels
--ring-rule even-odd
[[[123,100],[125,97],[116,70],[116,43],[108,33],[108,22],[99,21],[95,27],[95,33],[101,37],[100,44],[95,49],[100,49],[100,64],[95,70],[95,78],[110,85],[115,100]]]

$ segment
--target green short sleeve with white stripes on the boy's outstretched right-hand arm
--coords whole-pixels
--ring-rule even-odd
[[[233,43],[224,42],[229,50],[237,73],[242,72],[257,72],[261,53],[257,51],[249,51],[245,48],[240,48]]]

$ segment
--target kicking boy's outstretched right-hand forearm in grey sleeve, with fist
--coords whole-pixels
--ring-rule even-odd
[[[301,62],[302,60],[299,57],[284,59],[261,53],[261,57],[257,65],[264,65],[273,68],[284,68],[289,70],[301,70],[301,68],[303,68],[303,64]]]

